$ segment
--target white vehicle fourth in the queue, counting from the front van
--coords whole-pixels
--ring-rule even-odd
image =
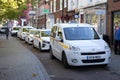
[[[25,37],[26,37],[26,33],[29,29],[33,29],[34,27],[31,27],[31,26],[24,26],[24,27],[21,27],[18,31],[18,34],[17,36],[22,39],[22,40],[25,40]]]

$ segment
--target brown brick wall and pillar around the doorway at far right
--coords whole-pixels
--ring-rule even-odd
[[[107,34],[110,40],[113,42],[113,13],[120,11],[120,0],[114,2],[113,0],[108,0],[108,14],[107,14]]]

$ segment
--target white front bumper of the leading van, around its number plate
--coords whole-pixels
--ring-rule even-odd
[[[111,59],[111,51],[99,51],[104,53],[85,54],[78,51],[66,51],[66,57],[69,65],[72,66],[85,66],[85,65],[102,65],[108,64]]]

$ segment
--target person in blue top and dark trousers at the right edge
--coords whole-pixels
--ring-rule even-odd
[[[115,29],[115,45],[114,45],[115,54],[119,54],[119,51],[120,51],[120,27]]]

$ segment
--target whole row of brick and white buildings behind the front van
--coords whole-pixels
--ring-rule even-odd
[[[113,41],[113,24],[117,20],[119,21],[120,0],[45,1],[40,1],[36,13],[38,28],[51,28],[55,23],[66,23],[70,20],[77,20],[80,23],[93,25],[100,34],[107,34],[110,40]],[[44,13],[46,3],[49,5],[48,13]]]

